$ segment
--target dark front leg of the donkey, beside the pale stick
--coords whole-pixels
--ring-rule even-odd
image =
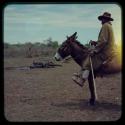
[[[90,94],[91,94],[89,104],[95,105],[95,102],[97,100],[97,95],[96,95],[96,88],[95,88],[93,78],[92,78],[92,72],[90,72],[90,74],[89,74],[88,83],[89,83],[89,90],[90,90]]]

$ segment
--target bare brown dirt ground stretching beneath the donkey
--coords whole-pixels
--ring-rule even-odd
[[[4,59],[4,67],[30,65],[34,59]],[[71,77],[80,67],[71,60],[62,67],[4,70],[4,114],[9,121],[116,121],[121,117],[121,74],[97,78],[98,101],[88,105],[83,88]]]

